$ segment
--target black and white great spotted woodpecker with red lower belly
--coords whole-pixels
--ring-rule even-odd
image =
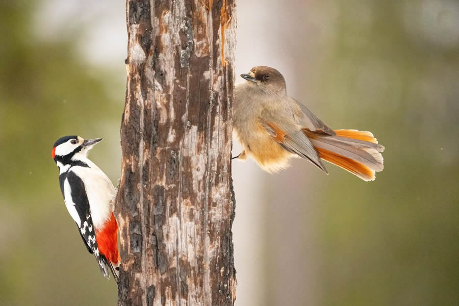
[[[59,184],[65,206],[86,248],[94,254],[100,271],[110,278],[108,268],[118,283],[118,224],[113,214],[115,188],[107,175],[88,158],[88,151],[102,138],[80,136],[59,138],[52,156],[59,168]]]

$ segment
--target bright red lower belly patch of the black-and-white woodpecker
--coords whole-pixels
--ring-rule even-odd
[[[110,220],[104,224],[104,228],[96,230],[96,240],[99,246],[99,253],[103,254],[107,260],[118,264],[120,257],[118,254],[118,223],[116,223],[113,213]]]

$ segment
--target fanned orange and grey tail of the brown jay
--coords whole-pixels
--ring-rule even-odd
[[[326,135],[303,130],[319,153],[319,157],[337,165],[364,181],[373,181],[375,172],[382,170],[380,152],[384,146],[378,144],[373,134],[357,130],[335,130],[336,135]]]

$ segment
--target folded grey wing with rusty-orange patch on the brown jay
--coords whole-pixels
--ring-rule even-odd
[[[316,149],[302,130],[288,131],[285,127],[279,127],[273,122],[262,122],[262,126],[287,151],[309,160],[320,170],[328,173]]]

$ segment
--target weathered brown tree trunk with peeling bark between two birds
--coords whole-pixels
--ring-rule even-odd
[[[232,305],[234,0],[127,1],[121,305]]]

